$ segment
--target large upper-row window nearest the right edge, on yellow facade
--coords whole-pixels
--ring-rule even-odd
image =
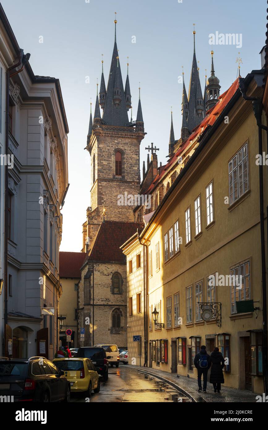
[[[229,203],[231,205],[249,189],[247,143],[229,161],[228,173]]]

